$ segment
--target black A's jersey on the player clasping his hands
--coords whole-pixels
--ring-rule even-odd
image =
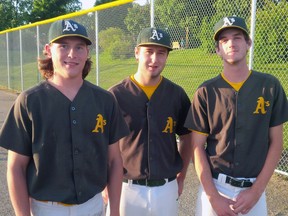
[[[221,75],[196,91],[185,126],[208,134],[206,153],[212,172],[257,177],[269,149],[269,128],[288,120],[279,81],[252,71],[237,92]]]

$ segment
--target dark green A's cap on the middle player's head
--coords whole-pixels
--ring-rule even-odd
[[[169,51],[173,50],[170,35],[166,31],[154,27],[145,28],[138,35],[136,47],[146,45],[162,46]]]

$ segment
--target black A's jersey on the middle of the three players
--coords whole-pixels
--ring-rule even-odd
[[[147,98],[130,77],[110,89],[130,129],[120,142],[126,179],[162,179],[182,169],[176,134],[190,133],[184,122],[190,107],[185,91],[168,79]]]

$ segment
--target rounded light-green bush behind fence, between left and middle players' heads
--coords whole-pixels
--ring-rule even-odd
[[[99,33],[99,46],[112,59],[126,59],[133,54],[131,38],[120,28],[108,28]]]

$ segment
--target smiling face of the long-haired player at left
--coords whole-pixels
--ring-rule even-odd
[[[82,71],[89,50],[85,41],[79,37],[66,37],[46,45],[48,57],[52,58],[53,79],[82,79]]]

